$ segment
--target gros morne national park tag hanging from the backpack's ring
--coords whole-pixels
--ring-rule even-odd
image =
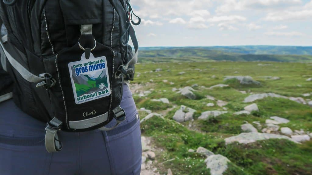
[[[71,77],[71,84],[76,104],[90,102],[103,97],[110,96],[110,80],[107,68],[106,57],[85,58],[68,64]]]

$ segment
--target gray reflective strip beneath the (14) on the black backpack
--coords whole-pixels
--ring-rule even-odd
[[[107,121],[107,118],[108,118],[108,112],[100,116],[96,116],[94,118],[80,120],[80,121],[69,121],[68,123],[71,129],[85,129],[85,128],[90,128],[92,126],[101,124]]]

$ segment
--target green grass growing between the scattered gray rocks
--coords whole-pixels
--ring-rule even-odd
[[[162,173],[171,168],[174,174],[209,174],[209,170],[206,169],[203,162],[205,158],[188,152],[188,149],[197,149],[202,146],[231,160],[232,163],[228,164],[229,168],[224,173],[227,175],[311,174],[311,142],[294,144],[287,140],[266,140],[247,145],[236,143],[225,145],[223,141],[224,138],[241,133],[240,126],[245,121],[251,124],[253,121],[260,121],[264,125],[265,120],[270,116],[280,116],[290,120],[287,124],[281,124],[281,127],[312,131],[312,108],[288,99],[270,97],[257,100],[255,103],[259,106],[259,112],[253,112],[251,115],[233,115],[234,112],[241,111],[245,106],[251,104],[243,103],[251,92],[273,92],[287,97],[303,97],[302,94],[312,92],[312,83],[305,81],[312,77],[310,64],[276,62],[262,63],[270,64],[268,66],[259,66],[258,64],[258,62],[184,62],[136,65],[136,73],[140,73],[140,77],[135,78],[133,83],[141,84],[142,90],[154,89],[146,97],[134,96],[137,107],[145,107],[153,112],[162,113],[167,108],[176,106],[164,115],[164,119],[153,117],[141,124],[142,135],[152,136],[153,144],[163,149],[159,153],[158,163],[156,163]],[[149,72],[157,68],[161,68],[162,71]],[[186,73],[178,75],[182,71]],[[212,78],[213,75],[215,78]],[[225,76],[232,75],[251,76],[254,80],[261,82],[261,86],[241,86],[237,81],[223,81]],[[278,76],[281,79],[266,80],[263,76]],[[147,84],[150,79],[153,80],[153,83]],[[164,83],[163,80],[174,84]],[[195,100],[187,99],[172,91],[173,87],[183,88],[195,83],[198,84],[198,87],[194,88],[196,90],[194,93],[197,96]],[[220,83],[227,83],[230,87],[208,88]],[[247,94],[239,91],[246,91]],[[216,104],[216,101],[207,99],[206,95],[228,102],[225,106],[228,113],[208,121],[196,120],[204,111],[224,111],[217,105],[207,107],[207,103]],[[151,101],[159,98],[168,98],[170,105]],[[305,98],[312,99],[312,97]],[[172,117],[180,105],[197,110],[194,115],[194,128],[192,128],[197,131],[188,129],[189,122],[179,125],[173,121]],[[146,115],[146,113],[140,112],[141,118]],[[159,163],[172,158],[175,159],[163,164]]]

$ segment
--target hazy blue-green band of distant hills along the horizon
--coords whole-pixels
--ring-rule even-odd
[[[229,46],[229,47],[146,47],[139,62],[181,61],[275,61],[312,62],[312,47]]]

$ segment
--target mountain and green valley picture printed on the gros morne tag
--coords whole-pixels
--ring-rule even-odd
[[[92,94],[93,92],[97,92],[99,89],[105,90],[108,88],[105,70],[102,70],[98,76],[94,74],[80,74],[80,76],[75,76],[75,74],[72,74],[72,78],[75,83],[77,97],[85,94]]]

